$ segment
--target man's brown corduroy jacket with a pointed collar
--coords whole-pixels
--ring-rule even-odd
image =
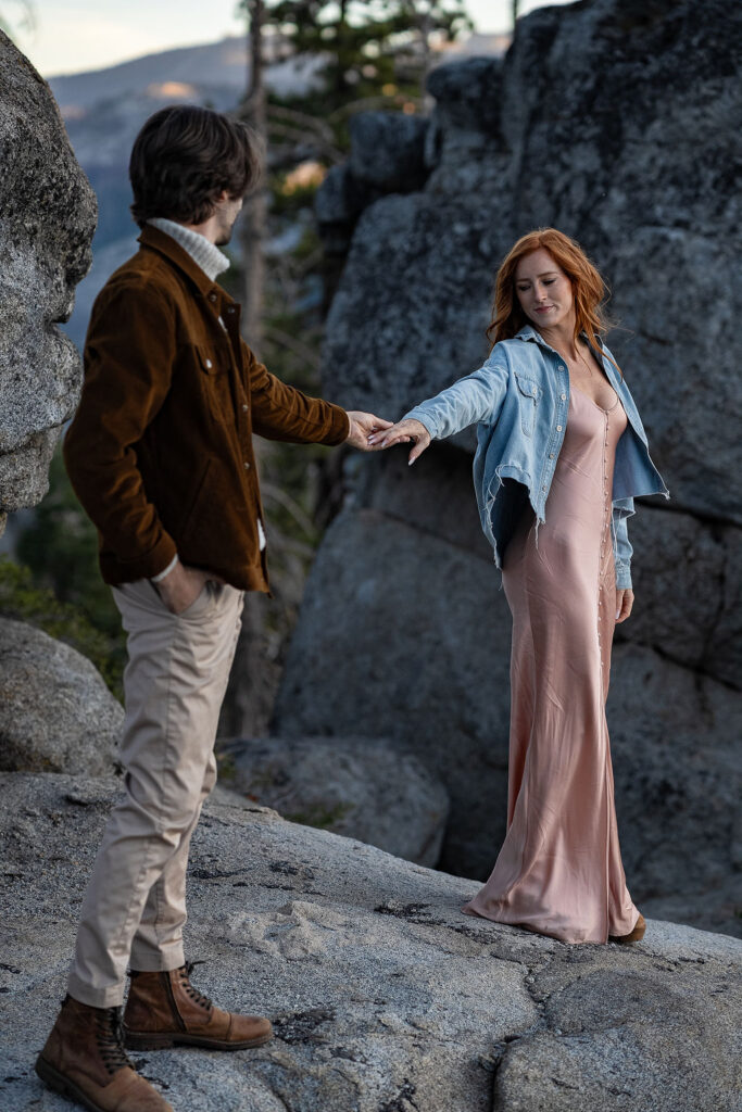
[[[103,579],[148,578],[177,553],[267,590],[253,433],[342,444],[347,414],[268,374],[240,338],[239,306],[175,239],[147,226],[139,242],[96,299],[65,437]]]

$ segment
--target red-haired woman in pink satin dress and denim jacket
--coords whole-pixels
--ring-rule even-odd
[[[605,286],[554,228],[505,258],[478,370],[386,433],[388,447],[478,424],[474,479],[513,615],[507,834],[463,909],[563,942],[639,941],[613,801],[605,699],[616,623],[631,614],[626,518],[670,493],[601,340]]]

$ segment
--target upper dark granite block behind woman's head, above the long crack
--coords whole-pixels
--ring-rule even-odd
[[[740,524],[724,276],[742,226],[741,39],[742,9],[724,0],[703,20],[690,0],[595,0],[524,17],[504,63],[434,70],[438,162],[423,191],[358,221],[328,320],[327,393],[398,417],[474,370],[499,261],[553,224],[613,289],[622,327],[609,342],[675,508]],[[677,289],[704,311],[679,311]]]

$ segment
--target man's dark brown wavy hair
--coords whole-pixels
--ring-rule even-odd
[[[202,224],[219,193],[244,197],[260,177],[261,149],[239,120],[195,105],[161,108],[137,136],[129,160],[131,215]]]

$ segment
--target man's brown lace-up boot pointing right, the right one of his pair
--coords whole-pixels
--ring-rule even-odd
[[[131,970],[131,987],[123,1013],[123,1037],[131,1050],[167,1046],[206,1046],[244,1050],[273,1037],[269,1020],[237,1015],[215,1007],[194,989],[190,972],[196,963],[162,973]]]

